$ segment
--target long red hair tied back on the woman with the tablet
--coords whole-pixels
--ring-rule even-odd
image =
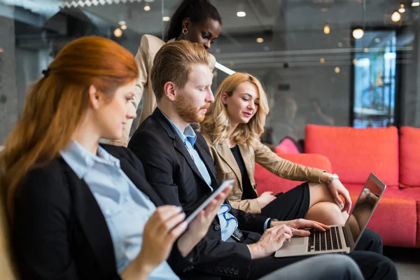
[[[137,80],[139,68],[121,45],[92,36],[66,45],[44,73],[29,90],[22,116],[0,153],[0,186],[10,222],[20,181],[69,144],[89,107],[90,85],[111,99],[118,87]]]

